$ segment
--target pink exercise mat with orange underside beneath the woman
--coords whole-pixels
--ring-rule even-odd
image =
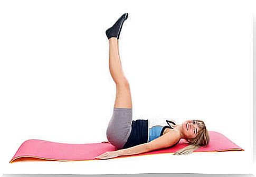
[[[200,147],[195,152],[220,152],[220,151],[244,151],[241,147],[233,143],[223,134],[210,131],[210,144],[207,147]],[[128,156],[138,156],[159,153],[174,153],[185,147],[186,141],[181,140],[174,147],[151,151],[136,155],[120,156],[118,158]],[[90,144],[66,144],[55,143],[44,140],[27,140],[23,142],[13,156],[10,163],[16,160],[54,160],[54,161],[80,161],[80,160],[97,160],[94,157],[106,152],[117,150],[110,143],[90,143]]]

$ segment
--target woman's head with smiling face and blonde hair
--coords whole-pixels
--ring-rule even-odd
[[[210,142],[210,136],[206,126],[201,120],[188,120],[182,123],[182,134],[189,144],[174,154],[190,154],[200,146],[206,146]]]

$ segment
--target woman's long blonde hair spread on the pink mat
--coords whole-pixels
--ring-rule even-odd
[[[197,122],[197,126],[200,128],[200,131],[198,131],[196,137],[194,139],[187,140],[188,144],[190,145],[176,151],[173,155],[191,154],[192,152],[197,150],[200,146],[207,146],[209,144],[210,136],[204,122],[201,120],[196,120],[196,122]]]

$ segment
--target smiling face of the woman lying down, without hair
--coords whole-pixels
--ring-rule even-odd
[[[197,132],[200,130],[195,120],[188,120],[182,123],[183,135],[187,139],[193,139],[196,137]]]

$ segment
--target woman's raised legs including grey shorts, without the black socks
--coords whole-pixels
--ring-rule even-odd
[[[121,149],[131,133],[132,104],[129,82],[122,71],[116,37],[109,39],[109,71],[116,83],[116,100],[107,129],[108,141]]]

